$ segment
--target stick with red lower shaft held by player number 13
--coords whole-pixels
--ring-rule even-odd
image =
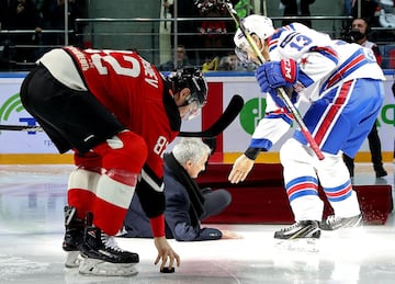
[[[264,59],[263,55],[259,50],[256,42],[253,41],[252,36],[247,31],[246,26],[242,24],[242,21],[238,16],[236,10],[233,9],[232,3],[225,2],[224,4],[225,4],[227,11],[229,12],[229,14],[232,15],[232,18],[234,19],[236,25],[240,29],[242,35],[246,37],[246,39],[247,39],[248,44],[250,45],[250,47],[252,48],[253,53],[257,55],[259,61],[261,64],[264,64],[266,59]],[[313,151],[315,152],[315,155],[318,157],[319,160],[324,160],[325,157],[324,157],[321,150],[319,149],[316,140],[314,139],[314,137],[309,133],[307,126],[304,124],[304,122],[303,122],[301,115],[298,114],[297,110],[295,109],[295,106],[291,102],[290,96],[286,94],[286,92],[284,91],[283,88],[276,88],[276,91],[278,91],[278,95],[280,96],[280,99],[283,100],[283,102],[285,103],[287,110],[295,117],[295,121],[296,121],[297,125],[300,126],[303,136],[306,138],[309,147],[313,149]]]

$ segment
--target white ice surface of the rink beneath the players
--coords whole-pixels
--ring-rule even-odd
[[[370,164],[357,164],[354,183],[394,185],[394,164],[385,168],[388,175],[375,179]],[[281,225],[221,224],[217,227],[236,231],[242,239],[170,240],[181,257],[172,274],[160,273],[154,265],[153,240],[119,238],[120,247],[140,257],[136,275],[80,275],[76,269],[65,269],[61,250],[71,169],[0,166],[0,283],[395,283],[394,213],[385,225],[324,231],[318,251],[279,247],[272,237]]]

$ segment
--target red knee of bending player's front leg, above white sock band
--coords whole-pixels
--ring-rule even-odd
[[[133,132],[122,132],[93,148],[102,156],[102,168],[120,172],[139,173],[148,156],[142,136]]]

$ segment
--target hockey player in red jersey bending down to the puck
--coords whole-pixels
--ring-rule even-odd
[[[82,274],[137,272],[138,254],[114,240],[135,191],[150,219],[155,264],[180,264],[165,237],[162,154],[181,120],[199,114],[206,95],[199,69],[163,77],[134,52],[68,46],[38,60],[22,83],[22,103],[60,154],[75,152],[65,207],[66,266]]]

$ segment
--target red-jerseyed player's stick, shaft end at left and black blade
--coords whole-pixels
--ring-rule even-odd
[[[219,118],[207,129],[203,132],[180,132],[179,136],[182,137],[202,137],[213,138],[221,134],[229,124],[236,118],[244,106],[244,100],[239,94],[235,94],[224,113]],[[0,130],[14,130],[14,132],[43,132],[38,125],[0,125]]]

